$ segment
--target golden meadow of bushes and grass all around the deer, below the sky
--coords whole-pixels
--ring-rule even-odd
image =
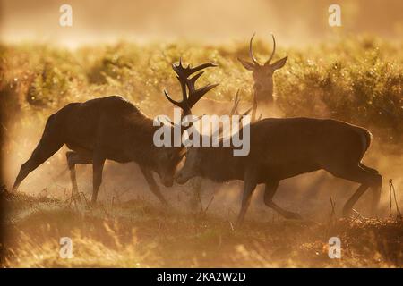
[[[270,55],[270,47],[270,43],[258,40],[255,54],[264,59]],[[7,239],[2,246],[2,265],[401,267],[403,228],[395,206],[388,210],[392,201],[388,180],[394,180],[401,205],[403,41],[363,35],[313,46],[279,45],[274,60],[285,55],[287,64],[274,76],[278,116],[330,117],[371,130],[373,146],[364,160],[378,166],[384,176],[382,217],[370,219],[363,213],[340,219],[342,203],[338,200],[337,212],[331,214],[329,193],[324,193],[318,203],[322,213],[310,219],[287,221],[270,213],[262,220],[262,215],[252,214],[240,230],[232,224],[238,205],[233,206],[235,213],[226,209],[218,214],[214,210],[222,206],[217,196],[211,206],[210,197],[204,197],[200,210],[198,206],[189,211],[183,201],[171,209],[135,195],[117,202],[110,199],[115,196],[111,195],[112,189],[104,188],[107,199],[90,207],[69,199],[67,179],[58,189],[55,185],[53,189],[38,187],[40,181],[55,181],[55,174],[65,169],[64,154],[60,152],[47,162],[52,170],[50,166],[46,172],[46,166],[40,169],[21,193],[11,195],[5,189],[37,144],[47,116],[67,103],[120,94],[144,114],[164,113],[170,106],[163,89],[180,94],[171,69],[180,56],[184,63],[219,64],[200,80],[201,85],[220,83],[206,97],[228,101],[241,89],[243,100],[251,101],[253,80],[236,60],[248,57],[246,43],[138,45],[122,41],[75,50],[45,44],[3,44],[0,107],[5,186],[1,199],[5,214],[2,228]],[[121,174],[113,183],[117,192],[125,189],[120,183],[127,181],[123,177]],[[298,180],[288,189],[306,186],[306,181]],[[333,182],[321,185],[316,181],[310,186],[328,189]],[[134,193],[147,188],[142,184],[132,186]],[[89,196],[89,186],[82,187],[83,196]],[[311,191],[313,194],[317,192]],[[279,195],[278,199],[292,195],[287,196]],[[303,196],[298,194],[298,198]],[[176,193],[171,198],[176,198]],[[59,257],[58,243],[63,236],[74,241],[73,259]],[[328,257],[330,236],[342,239],[343,259]]]

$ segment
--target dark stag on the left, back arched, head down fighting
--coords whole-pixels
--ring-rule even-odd
[[[47,119],[42,138],[30,159],[21,165],[13,190],[18,189],[30,172],[65,144],[73,150],[66,153],[73,194],[78,192],[76,164],[92,164],[91,202],[95,203],[105,161],[135,162],[139,164],[151,191],[167,205],[152,172],[159,174],[165,186],[172,186],[176,165],[184,155],[184,148],[155,147],[153,134],[158,128],[153,126],[152,119],[123,97],[102,97],[65,105]]]

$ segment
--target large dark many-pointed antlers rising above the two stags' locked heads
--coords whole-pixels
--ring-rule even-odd
[[[203,74],[204,71],[201,71],[203,69],[209,68],[209,67],[216,67],[217,64],[214,63],[203,63],[201,65],[198,65],[196,67],[191,67],[190,64],[188,64],[187,67],[184,67],[182,65],[182,58],[179,59],[178,64],[172,64],[173,70],[176,72],[177,75],[177,80],[179,80],[179,83],[181,84],[182,88],[182,101],[176,101],[172,99],[168,93],[167,89],[164,90],[164,94],[167,97],[167,100],[171,102],[172,104],[180,107],[184,111],[185,114],[191,114],[191,109],[193,105],[195,105],[202,96],[204,96],[207,92],[210,91],[210,89],[217,87],[219,84],[208,84],[207,86],[204,86],[202,88],[195,88],[194,84],[196,80],[198,80],[201,77],[201,74]],[[189,76],[191,76],[194,72],[201,71],[194,75],[192,78],[189,79]],[[187,92],[189,91],[189,93]]]

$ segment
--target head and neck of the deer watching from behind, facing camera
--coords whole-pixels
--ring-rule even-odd
[[[271,105],[273,102],[273,74],[274,71],[279,70],[286,64],[287,56],[283,57],[279,61],[270,63],[276,53],[276,39],[274,35],[271,34],[273,38],[273,51],[271,52],[269,60],[266,63],[261,64],[257,61],[256,57],[253,55],[253,38],[254,34],[249,42],[249,55],[252,62],[245,61],[238,58],[238,61],[244,65],[244,68],[248,71],[252,71],[253,74],[253,92],[255,94],[256,100],[258,100],[262,105]]]

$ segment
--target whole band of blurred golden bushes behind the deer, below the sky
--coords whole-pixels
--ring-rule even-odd
[[[305,48],[278,48],[275,59],[288,55],[275,75],[277,105],[285,116],[331,117],[370,128],[384,143],[403,135],[402,42],[351,37]],[[46,116],[72,101],[121,94],[148,114],[167,106],[162,91],[176,97],[180,89],[171,64],[182,56],[194,65],[214,62],[200,84],[219,82],[207,97],[229,100],[241,88],[250,100],[252,75],[236,61],[248,57],[247,43],[206,46],[197,43],[120,42],[71,51],[46,45],[0,46],[0,88],[13,86],[18,110]],[[256,42],[259,58],[270,44]],[[275,60],[274,59],[274,60]],[[14,106],[14,105],[13,105]]]

